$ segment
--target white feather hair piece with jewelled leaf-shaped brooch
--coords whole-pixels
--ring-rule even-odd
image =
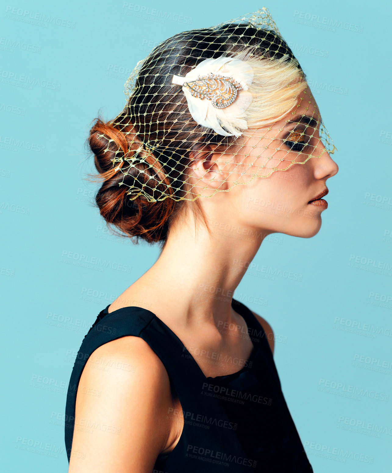
[[[188,82],[198,81],[199,78],[221,77],[219,91],[225,93],[232,90],[231,100],[225,105],[217,107],[216,95],[208,99],[206,94],[200,91],[198,94],[192,90]],[[190,70],[185,77],[173,75],[172,84],[182,86],[187,98],[189,112],[199,125],[212,128],[216,133],[223,136],[241,136],[243,130],[248,129],[245,120],[245,110],[252,102],[252,94],[249,86],[254,78],[252,67],[246,61],[232,57],[221,56],[216,59],[205,59],[194,69]],[[222,89],[223,86],[223,89]],[[196,88],[197,89],[197,88]],[[199,90],[201,90],[199,88]],[[215,104],[215,105],[213,105]]]

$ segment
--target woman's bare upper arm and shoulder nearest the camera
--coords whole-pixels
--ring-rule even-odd
[[[171,442],[171,406],[169,376],[147,342],[101,345],[80,377],[69,472],[151,472]]]

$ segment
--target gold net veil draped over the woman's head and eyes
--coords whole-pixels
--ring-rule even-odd
[[[125,95],[123,138],[98,137],[130,200],[211,197],[336,149],[266,8],[162,41]]]

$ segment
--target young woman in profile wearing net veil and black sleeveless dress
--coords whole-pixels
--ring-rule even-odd
[[[316,235],[338,172],[305,75],[267,10],[158,45],[123,112],[98,119],[89,145],[101,215],[162,250],[80,347],[66,406],[69,472],[312,472],[272,329],[232,298],[267,235]]]

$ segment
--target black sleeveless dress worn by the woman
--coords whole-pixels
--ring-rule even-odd
[[[65,409],[65,445],[71,455],[76,393],[91,353],[120,337],[142,337],[165,366],[184,414],[172,452],[160,454],[151,473],[312,473],[285,403],[266,333],[252,312],[233,299],[253,350],[241,370],[205,377],[184,344],[156,315],[141,307],[107,306],[81,344]]]

